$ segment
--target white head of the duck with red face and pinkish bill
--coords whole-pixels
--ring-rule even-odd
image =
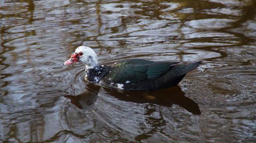
[[[87,46],[79,46],[76,48],[75,53],[72,54],[71,58],[64,62],[63,65],[70,65],[75,62],[86,64],[86,69],[93,69],[99,66],[97,54],[92,48]]]

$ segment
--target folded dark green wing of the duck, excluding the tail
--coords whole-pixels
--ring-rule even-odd
[[[106,74],[101,84],[113,88],[146,90],[154,79],[166,73],[177,62],[153,62],[147,60],[124,60],[117,62]]]

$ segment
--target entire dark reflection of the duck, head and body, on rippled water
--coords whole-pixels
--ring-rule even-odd
[[[86,92],[77,95],[66,95],[64,97],[71,100],[77,108],[87,111],[94,106],[100,91],[99,86],[88,83]],[[179,86],[154,91],[120,91],[116,89],[104,88],[106,94],[115,98],[135,103],[152,103],[160,106],[171,107],[173,104],[179,105],[194,115],[200,115],[201,111],[198,104],[185,96],[185,93]]]

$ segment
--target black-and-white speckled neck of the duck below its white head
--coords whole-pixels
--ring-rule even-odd
[[[96,83],[100,80],[101,74],[103,72],[103,66],[96,65],[96,66],[86,66],[86,76],[85,79],[89,82]]]

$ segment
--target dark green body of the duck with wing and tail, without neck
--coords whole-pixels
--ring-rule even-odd
[[[177,65],[178,62],[123,60],[113,65],[100,83],[106,87],[126,90],[156,90],[177,85],[187,72],[200,62]]]

